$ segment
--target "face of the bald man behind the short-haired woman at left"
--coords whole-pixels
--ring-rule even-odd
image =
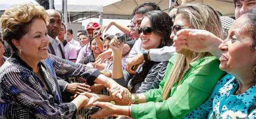
[[[54,11],[49,14],[49,24],[47,25],[48,34],[52,38],[56,38],[61,29],[60,14]]]

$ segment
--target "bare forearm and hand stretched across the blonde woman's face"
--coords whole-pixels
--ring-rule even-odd
[[[176,50],[189,49],[195,52],[210,52],[217,58],[221,56],[218,46],[223,40],[209,31],[181,29],[173,40],[173,46],[176,47]]]

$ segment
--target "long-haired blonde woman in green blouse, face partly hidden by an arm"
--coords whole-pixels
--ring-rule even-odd
[[[141,27],[144,28],[143,24]],[[189,27],[204,29],[222,37],[218,13],[207,5],[186,4],[179,8],[171,38],[178,30]],[[209,97],[218,79],[225,75],[225,72],[218,68],[218,59],[208,52],[196,53],[190,50],[180,50],[177,53],[169,60],[165,76],[158,89],[130,95],[129,92],[112,88],[110,92],[113,92],[113,98],[117,92],[120,92],[123,95],[118,97],[133,105],[118,106],[107,102],[95,102],[94,105],[102,109],[92,117],[119,114],[135,119],[170,119],[182,118],[195,110]]]

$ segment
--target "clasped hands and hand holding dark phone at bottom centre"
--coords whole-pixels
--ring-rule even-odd
[[[80,93],[80,95],[85,95],[88,98],[85,102],[85,108],[88,108],[86,115],[106,117],[115,114],[120,108],[119,105],[130,105],[138,101],[135,95],[132,95],[127,88],[122,86],[107,88],[107,90],[110,96],[89,92]]]

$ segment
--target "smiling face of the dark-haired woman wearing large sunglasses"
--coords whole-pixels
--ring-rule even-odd
[[[151,21],[148,17],[144,17],[141,21],[140,27],[143,29],[145,27],[151,27]],[[151,27],[152,28],[152,27]],[[141,32],[140,39],[142,41],[142,47],[144,49],[151,49],[151,48],[157,48],[161,44],[161,37],[157,35],[157,33],[154,31],[154,28],[152,28],[151,35],[144,35],[144,32]]]

